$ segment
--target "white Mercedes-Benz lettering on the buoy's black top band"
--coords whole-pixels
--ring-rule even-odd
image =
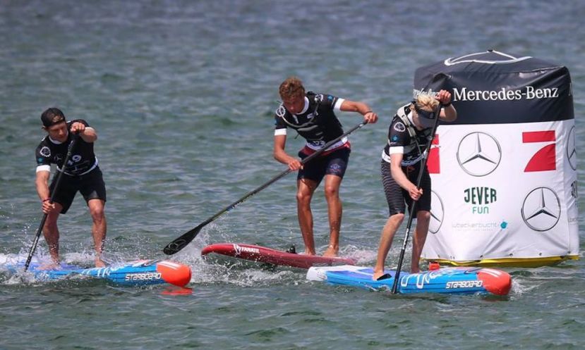
[[[453,89],[453,101],[514,101],[520,99],[556,99],[559,97],[557,87],[536,88],[532,86],[524,89],[499,90],[469,90],[466,87]]]

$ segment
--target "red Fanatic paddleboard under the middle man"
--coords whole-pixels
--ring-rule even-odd
[[[325,258],[325,256],[290,253],[242,243],[218,243],[206,246],[201,251],[202,256],[207,254],[221,254],[244,260],[274,265],[291,266],[293,268],[310,268],[312,266],[355,265],[351,258]]]

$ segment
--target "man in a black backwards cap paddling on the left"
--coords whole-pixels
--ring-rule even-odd
[[[47,136],[37,146],[37,194],[42,202],[42,211],[47,214],[43,227],[44,239],[49,246],[49,254],[54,266],[59,265],[59,213],[66,213],[79,191],[90,209],[93,220],[92,236],[95,245],[95,266],[104,267],[102,248],[106,238],[106,187],[102,170],[97,166],[93,144],[97,139],[95,130],[85,120],[65,120],[59,108],[49,108],[41,115],[42,128]],[[74,136],[74,134],[76,134]],[[64,166],[67,149],[73,137],[79,137],[72,150],[72,156]],[[64,171],[61,183],[51,203],[52,189],[57,176],[49,187],[51,164],[56,164],[58,171]],[[53,266],[47,266],[53,267]]]

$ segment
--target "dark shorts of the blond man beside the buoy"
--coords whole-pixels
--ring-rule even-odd
[[[386,201],[388,203],[390,216],[398,213],[404,214],[406,205],[409,206],[410,213],[413,201],[409,192],[406,191],[406,189],[400,187],[400,185],[394,181],[392,172],[390,170],[390,163],[382,160],[380,168],[382,172],[382,185],[384,185],[384,193],[386,194]],[[418,171],[420,169],[420,162],[414,165],[402,167],[402,171],[404,171],[406,177],[408,177],[410,182],[414,183],[415,185],[416,181],[418,180]],[[423,177],[421,178],[421,189],[423,189],[423,195],[418,199],[418,201],[416,201],[416,211],[430,211],[430,175],[428,174],[428,169],[426,167],[423,173]]]

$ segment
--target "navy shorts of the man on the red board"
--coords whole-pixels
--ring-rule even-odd
[[[319,184],[325,175],[337,175],[341,178],[345,175],[347,164],[349,163],[349,154],[351,149],[348,147],[341,147],[335,149],[331,153],[324,156],[317,156],[308,163],[303,165],[303,169],[298,170],[296,180],[308,179],[313,180]],[[302,151],[298,152],[301,160],[307,158],[309,155]]]

